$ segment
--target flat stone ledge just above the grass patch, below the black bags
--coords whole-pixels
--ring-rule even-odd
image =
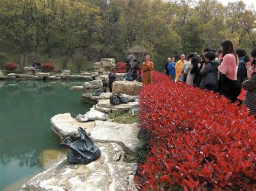
[[[135,102],[129,102],[125,104],[112,105],[110,100],[98,100],[95,108],[98,111],[102,112],[129,112],[132,108],[139,107],[139,102],[136,100]]]

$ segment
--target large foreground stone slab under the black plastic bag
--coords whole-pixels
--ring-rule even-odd
[[[95,143],[102,152],[96,161],[71,165],[65,158],[26,182],[21,190],[131,190],[137,163],[123,162],[125,152],[115,143]]]

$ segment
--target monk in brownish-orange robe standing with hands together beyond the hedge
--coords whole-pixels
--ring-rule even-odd
[[[143,70],[142,83],[143,84],[153,83],[153,74],[152,74],[153,68],[154,68],[154,64],[153,62],[150,61],[150,56],[146,55],[146,61],[142,63],[142,70]]]

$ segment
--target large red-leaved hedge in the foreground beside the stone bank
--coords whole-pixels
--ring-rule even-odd
[[[140,125],[151,133],[140,189],[256,189],[256,121],[246,107],[158,72],[139,104]]]

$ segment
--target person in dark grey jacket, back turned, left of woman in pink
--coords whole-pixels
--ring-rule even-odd
[[[216,91],[218,89],[218,61],[215,60],[216,54],[212,51],[205,53],[205,63],[203,64],[203,68],[200,70],[199,75],[202,76],[202,80],[200,82],[201,89],[207,89],[210,91]],[[214,73],[214,83],[206,84],[206,77],[209,73]]]

